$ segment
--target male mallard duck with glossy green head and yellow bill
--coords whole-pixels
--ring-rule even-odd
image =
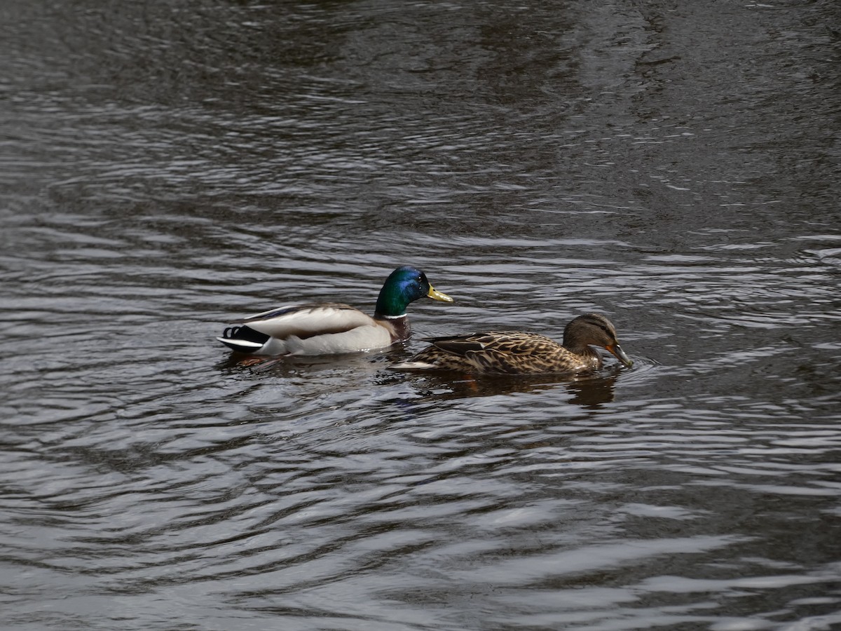
[[[255,355],[329,355],[384,348],[409,339],[406,307],[424,296],[452,302],[447,294],[432,289],[423,272],[405,265],[386,278],[373,317],[333,302],[287,305],[235,322],[216,339]]]

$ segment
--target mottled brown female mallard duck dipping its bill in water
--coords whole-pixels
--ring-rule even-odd
[[[563,344],[537,333],[488,331],[435,337],[432,345],[398,370],[454,370],[482,374],[578,373],[601,366],[590,344],[606,348],[628,368],[633,364],[616,340],[616,329],[604,315],[579,315],[563,330]]]

